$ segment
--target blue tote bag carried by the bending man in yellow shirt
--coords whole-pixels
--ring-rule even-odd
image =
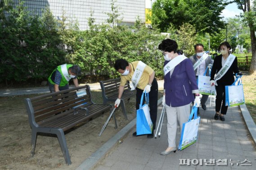
[[[146,104],[142,105],[145,96]],[[137,135],[151,134],[153,130],[153,123],[150,118],[148,107],[148,93],[142,93],[140,99],[139,109],[137,110],[136,132]]]

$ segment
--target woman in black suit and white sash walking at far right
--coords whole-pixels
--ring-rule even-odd
[[[228,42],[220,44],[218,50],[221,54],[215,58],[211,69],[211,86],[215,85],[216,88],[215,120],[220,118],[225,121],[224,115],[228,110],[228,106],[225,106],[225,86],[234,83],[233,73],[239,73],[237,57],[229,53],[230,49]]]

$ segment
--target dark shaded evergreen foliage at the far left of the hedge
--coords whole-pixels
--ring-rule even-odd
[[[63,62],[65,53],[58,48],[57,24],[49,9],[38,17],[29,15],[22,1],[12,8],[10,0],[2,0],[0,17],[0,74],[5,74],[0,81],[45,77],[49,68]]]

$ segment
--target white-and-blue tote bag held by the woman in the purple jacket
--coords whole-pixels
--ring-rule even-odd
[[[180,135],[180,144],[178,147],[179,150],[183,150],[184,148],[189,147],[197,141],[198,127],[200,122],[200,116],[197,115],[197,111],[198,108],[196,106],[193,106],[192,111],[189,115],[188,122],[183,123]]]

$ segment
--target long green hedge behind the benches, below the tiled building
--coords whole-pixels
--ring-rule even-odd
[[[8,0],[4,0],[7,2]],[[4,12],[5,11],[5,12]],[[8,13],[8,17],[4,15]],[[90,18],[93,21],[93,18]],[[141,60],[163,76],[163,57],[157,50],[165,36],[148,29],[139,20],[135,26],[94,25],[80,31],[64,15],[57,21],[49,9],[42,17],[30,16],[26,8],[0,3],[0,82],[47,79],[63,63],[78,64],[84,75],[119,74],[114,61]]]

